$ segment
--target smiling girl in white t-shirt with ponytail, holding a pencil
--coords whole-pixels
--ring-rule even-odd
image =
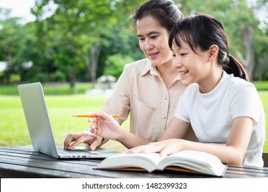
[[[214,154],[230,165],[263,167],[263,105],[242,64],[230,55],[222,23],[206,15],[183,19],[172,29],[169,46],[188,88],[159,141],[127,153],[166,156],[190,149]],[[107,134],[112,128],[116,132],[115,126],[108,127],[113,120],[109,115],[98,115],[103,118],[91,119],[97,123],[92,132]],[[200,143],[181,139],[190,126]]]

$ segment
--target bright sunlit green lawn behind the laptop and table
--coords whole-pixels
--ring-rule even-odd
[[[260,86],[260,84],[258,84],[258,86]],[[261,84],[261,86],[263,86],[263,84]],[[54,137],[56,144],[59,146],[63,145],[63,141],[67,134],[71,132],[82,132],[89,127],[86,118],[74,118],[71,117],[71,115],[89,111],[99,111],[108,97],[108,95],[74,95],[70,94],[69,91],[66,93],[67,95],[52,95],[52,93],[60,93],[60,91],[69,90],[69,88],[67,85],[44,85],[43,87]],[[76,90],[78,92],[85,92],[88,87],[90,87],[90,84],[78,84]],[[266,87],[268,88],[268,85]],[[260,90],[264,89],[260,88]],[[3,95],[3,93],[9,94]],[[265,108],[265,127],[267,132],[268,91],[258,91],[258,93]],[[16,86],[0,86],[0,117],[0,146],[31,145],[21,100],[19,99]],[[123,126],[124,128],[129,129],[129,121],[126,121]],[[125,147],[115,141],[109,141],[105,144],[105,147],[120,151],[124,151],[125,149]],[[267,134],[263,151],[268,152]]]

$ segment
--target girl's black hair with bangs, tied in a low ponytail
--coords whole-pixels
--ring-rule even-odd
[[[227,34],[220,21],[204,14],[178,21],[170,32],[168,40],[170,49],[173,43],[181,47],[178,36],[188,43],[194,53],[197,53],[197,47],[202,51],[207,51],[211,45],[217,45],[219,47],[218,63],[222,65],[223,70],[249,81],[249,75],[243,64],[229,53]]]

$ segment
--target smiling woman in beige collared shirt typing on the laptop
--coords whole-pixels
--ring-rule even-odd
[[[170,0],[150,0],[133,14],[133,25],[139,39],[139,47],[146,59],[126,64],[113,95],[107,99],[102,110],[120,115],[120,125],[129,117],[130,132],[139,139],[137,143],[122,143],[127,148],[157,141],[170,123],[179,95],[186,86],[172,64],[168,37],[172,26],[183,18],[177,5]],[[191,131],[187,139],[194,139]],[[93,150],[104,139],[89,131],[68,134],[65,149],[74,149],[87,143]],[[71,144],[71,142],[74,142]]]

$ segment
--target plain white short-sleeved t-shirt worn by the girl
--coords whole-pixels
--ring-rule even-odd
[[[201,143],[225,145],[236,117],[254,121],[243,165],[263,167],[265,112],[255,86],[223,71],[221,82],[209,93],[191,84],[179,99],[175,117],[191,123]]]

